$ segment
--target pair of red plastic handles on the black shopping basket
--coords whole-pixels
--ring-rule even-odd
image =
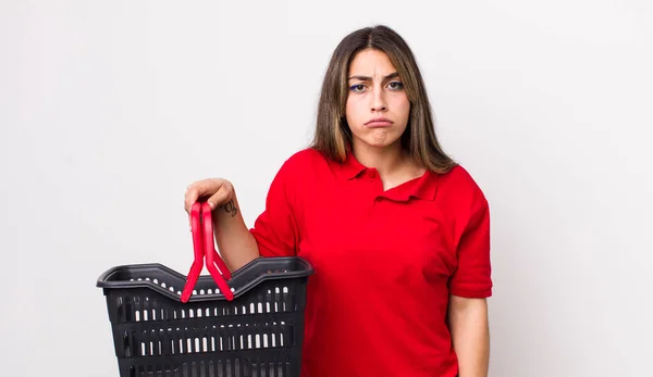
[[[195,261],[186,278],[186,284],[182,292],[182,302],[188,302],[190,299],[199,274],[204,269],[205,256],[207,259],[207,269],[218,285],[218,288],[227,301],[232,301],[234,293],[225,281],[225,279],[231,279],[231,273],[213,244],[213,222],[211,219],[211,208],[208,203],[197,202],[193,204],[190,209],[190,229],[193,231]],[[215,264],[218,264],[218,268],[220,269],[215,267]]]

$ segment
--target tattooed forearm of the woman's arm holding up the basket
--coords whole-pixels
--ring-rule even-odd
[[[245,225],[236,194],[213,211],[213,233],[220,255],[230,271],[259,257],[256,239]]]

